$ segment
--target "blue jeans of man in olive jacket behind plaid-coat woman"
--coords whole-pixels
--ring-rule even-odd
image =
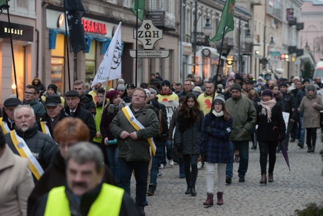
[[[239,178],[242,178],[245,176],[245,173],[248,170],[248,162],[249,162],[249,140],[239,140],[239,141],[234,141],[230,140],[231,143],[231,148],[234,157],[235,155],[235,150],[239,150],[239,169],[238,169],[238,176]],[[233,176],[233,163],[227,164],[227,169],[226,169],[226,176],[232,179]]]

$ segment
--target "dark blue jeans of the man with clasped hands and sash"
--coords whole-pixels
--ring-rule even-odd
[[[130,180],[132,170],[135,170],[136,178],[136,206],[144,209],[146,204],[147,178],[149,162],[126,161],[118,158],[119,162],[119,187],[130,195]]]

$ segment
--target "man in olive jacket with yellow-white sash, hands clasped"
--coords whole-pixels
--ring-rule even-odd
[[[137,88],[131,105],[122,108],[110,124],[110,130],[118,139],[119,186],[130,194],[132,170],[136,173],[136,205],[145,214],[148,166],[151,160],[150,138],[159,134],[159,120],[156,113],[146,104],[147,93]]]

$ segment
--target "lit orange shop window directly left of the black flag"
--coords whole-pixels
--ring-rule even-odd
[[[65,66],[65,36],[57,34],[56,47],[51,49],[51,83],[55,84],[62,95],[64,95],[64,66]]]

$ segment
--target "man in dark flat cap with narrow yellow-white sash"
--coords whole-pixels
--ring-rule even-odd
[[[52,133],[56,124],[67,116],[63,109],[61,98],[57,95],[47,96],[45,110],[45,114],[37,123],[38,130],[53,137]]]

